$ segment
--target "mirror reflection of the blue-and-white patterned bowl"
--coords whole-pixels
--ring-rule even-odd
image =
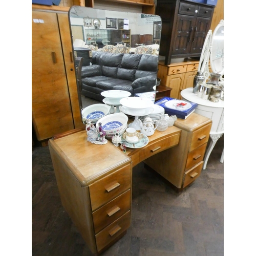
[[[87,106],[87,108],[82,110],[82,120],[86,122],[87,119],[91,119],[95,123],[100,118],[109,114],[111,106],[106,104],[93,104]]]

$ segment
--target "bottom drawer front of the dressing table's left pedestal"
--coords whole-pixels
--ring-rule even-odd
[[[98,234],[96,234],[97,250],[100,251],[110,242],[115,240],[123,231],[129,228],[131,225],[131,212],[128,211],[121,218],[104,228]]]

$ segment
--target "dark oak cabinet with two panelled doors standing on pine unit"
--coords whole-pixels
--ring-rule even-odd
[[[156,14],[162,18],[159,55],[165,56],[165,65],[172,58],[201,55],[214,6],[186,0],[158,0]]]

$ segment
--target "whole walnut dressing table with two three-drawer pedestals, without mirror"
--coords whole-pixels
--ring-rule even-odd
[[[88,244],[100,254],[131,225],[132,168],[144,161],[178,188],[201,173],[211,119],[193,113],[164,132],[156,131],[142,148],[120,147],[110,141],[96,145],[84,130],[49,140],[63,207]]]

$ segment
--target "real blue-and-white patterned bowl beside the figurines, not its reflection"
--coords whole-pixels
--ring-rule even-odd
[[[101,126],[106,133],[117,133],[122,131],[127,125],[128,117],[124,113],[114,113],[100,118],[96,127]]]

